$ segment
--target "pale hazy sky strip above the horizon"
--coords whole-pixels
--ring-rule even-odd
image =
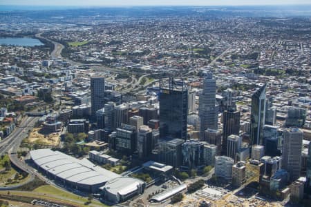
[[[0,0],[0,5],[36,6],[223,6],[311,4],[310,0]]]

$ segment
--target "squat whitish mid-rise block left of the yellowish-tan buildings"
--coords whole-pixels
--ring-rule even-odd
[[[232,179],[232,166],[234,159],[226,156],[215,157],[215,175],[226,180]]]

